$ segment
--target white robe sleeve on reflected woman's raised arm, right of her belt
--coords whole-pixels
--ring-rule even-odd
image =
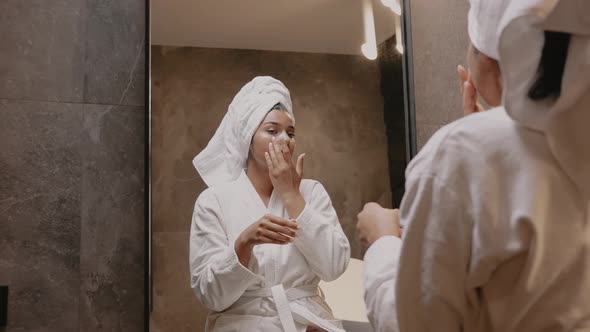
[[[307,259],[314,273],[324,281],[340,277],[350,260],[350,244],[330,196],[317,181],[313,181],[305,208],[297,218],[300,229],[293,244]]]

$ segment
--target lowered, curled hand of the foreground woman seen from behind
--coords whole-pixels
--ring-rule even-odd
[[[370,247],[383,236],[401,236],[398,209],[386,209],[377,203],[367,203],[357,219],[357,235],[364,248]]]

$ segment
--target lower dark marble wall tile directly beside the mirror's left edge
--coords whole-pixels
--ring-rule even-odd
[[[85,105],[80,330],[143,331],[143,108]]]

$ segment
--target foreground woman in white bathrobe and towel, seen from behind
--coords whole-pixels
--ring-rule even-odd
[[[359,214],[376,331],[590,331],[589,18],[587,0],[471,1],[464,106],[497,107],[412,160],[403,241],[397,211]]]

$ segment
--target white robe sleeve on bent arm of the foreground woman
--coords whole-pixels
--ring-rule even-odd
[[[471,226],[458,197],[433,175],[408,178],[403,242],[381,238],[365,255],[365,302],[375,331],[462,330]]]

